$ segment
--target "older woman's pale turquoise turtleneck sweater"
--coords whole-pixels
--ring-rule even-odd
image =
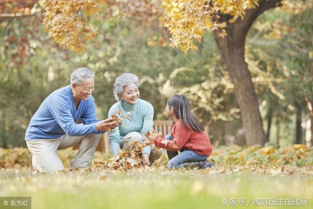
[[[145,138],[145,134],[151,131],[153,126],[153,106],[142,99],[134,104],[128,104],[127,102],[121,100],[116,102],[109,110],[109,117],[112,116],[117,110],[122,111],[122,115],[126,116],[127,112],[131,112],[129,118],[132,121],[124,120],[124,126],[120,124],[115,128],[114,132],[110,132],[110,145],[113,156],[116,156],[119,149],[121,139],[125,137],[128,133],[136,131],[141,134],[142,139]],[[150,154],[151,148],[147,146],[143,149],[142,153]]]

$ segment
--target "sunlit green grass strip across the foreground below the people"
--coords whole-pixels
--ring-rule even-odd
[[[313,176],[214,173],[163,168],[58,172],[0,170],[0,196],[31,196],[32,209],[313,208]],[[245,198],[249,206],[222,206]],[[308,198],[308,206],[253,206],[255,198]],[[0,207],[1,208],[1,207]]]

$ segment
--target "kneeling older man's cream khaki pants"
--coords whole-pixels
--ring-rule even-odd
[[[39,172],[55,172],[64,166],[57,150],[67,149],[80,142],[76,157],[70,162],[71,168],[87,168],[99,143],[101,134],[70,137],[67,134],[59,139],[26,140],[27,147],[33,154],[33,167]]]

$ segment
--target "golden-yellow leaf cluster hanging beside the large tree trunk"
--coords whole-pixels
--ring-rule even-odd
[[[226,35],[226,23],[219,14],[243,18],[246,8],[257,5],[257,0],[163,0],[165,10],[164,26],[170,30],[171,42],[184,52],[198,50],[194,40],[201,43],[206,31],[221,29],[220,36]]]

